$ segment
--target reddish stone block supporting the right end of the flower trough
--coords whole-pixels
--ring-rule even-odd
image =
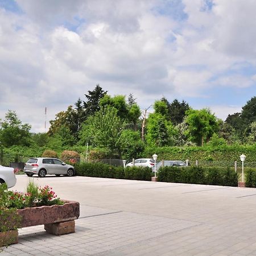
[[[50,233],[60,236],[63,234],[75,233],[75,221],[64,221],[52,224],[45,224],[44,229]]]

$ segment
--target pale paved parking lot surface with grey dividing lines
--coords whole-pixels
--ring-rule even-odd
[[[94,177],[17,175],[80,202],[76,233],[19,230],[3,255],[256,255],[256,189]]]

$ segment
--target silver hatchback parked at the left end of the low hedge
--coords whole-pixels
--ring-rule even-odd
[[[27,176],[37,174],[39,177],[47,174],[74,176],[75,168],[56,158],[30,158],[25,164],[24,172]]]

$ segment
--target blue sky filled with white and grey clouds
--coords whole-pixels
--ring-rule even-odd
[[[177,98],[225,121],[256,96],[255,13],[255,0],[0,0],[0,118],[47,131],[100,84],[142,110]]]

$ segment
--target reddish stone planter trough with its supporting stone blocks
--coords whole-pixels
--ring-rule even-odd
[[[62,234],[75,232],[75,220],[80,215],[80,205],[76,201],[65,201],[64,205],[52,205],[18,209],[20,228],[26,226],[44,225],[44,229],[51,234],[60,236]],[[16,239],[11,239],[16,234]],[[1,238],[2,237],[2,238]],[[8,238],[9,237],[9,238]],[[3,239],[5,238],[5,239]],[[3,240],[3,242],[1,242]],[[0,246],[10,245],[18,242],[18,230],[0,232]]]

